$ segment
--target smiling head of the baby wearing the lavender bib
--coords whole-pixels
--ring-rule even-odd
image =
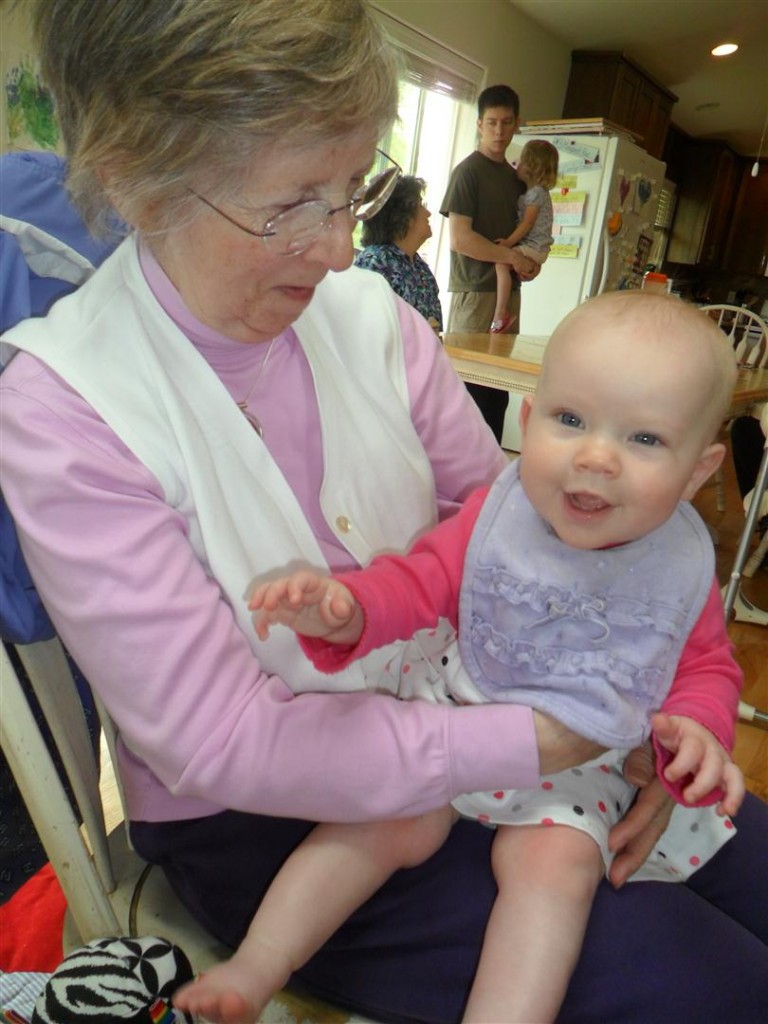
[[[597,549],[644,537],[722,459],[707,375],[687,346],[585,317],[551,343],[523,407],[521,480],[557,536]]]

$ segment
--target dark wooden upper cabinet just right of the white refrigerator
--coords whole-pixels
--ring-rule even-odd
[[[677,207],[666,259],[725,265],[741,161],[724,142],[689,138],[677,178]]]

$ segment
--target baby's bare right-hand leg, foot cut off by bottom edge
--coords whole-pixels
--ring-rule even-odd
[[[504,825],[492,862],[499,886],[465,1021],[554,1021],[603,876],[597,844],[565,825]]]

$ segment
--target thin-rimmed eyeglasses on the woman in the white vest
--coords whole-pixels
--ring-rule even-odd
[[[377,150],[376,152],[384,157],[385,160],[388,160],[392,166],[387,167],[378,174],[374,174],[372,178],[365,181],[359,188],[355,189],[352,198],[347,203],[344,203],[343,206],[337,206],[332,209],[323,200],[306,200],[304,203],[297,203],[296,206],[292,206],[274,217],[270,217],[264,224],[262,231],[255,231],[253,228],[241,224],[240,221],[230,217],[228,213],[219,210],[205,196],[196,193],[194,188],[190,188],[189,191],[201,203],[205,203],[211,210],[218,213],[220,217],[239,227],[241,231],[245,231],[246,234],[251,234],[255,239],[263,239],[264,245],[273,253],[281,256],[297,256],[313,245],[323,231],[328,229],[331,224],[331,217],[335,213],[347,210],[355,220],[369,220],[381,210],[392,195],[397,179],[402,174],[402,169],[383,150]]]

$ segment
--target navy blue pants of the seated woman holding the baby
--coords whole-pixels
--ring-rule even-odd
[[[598,891],[562,1024],[765,1024],[768,806],[748,797],[736,837],[687,885]],[[132,826],[193,913],[227,945],[311,828],[226,812]],[[382,1021],[461,1019],[495,896],[493,833],[460,821],[425,864],[399,871],[299,972],[313,993]]]

